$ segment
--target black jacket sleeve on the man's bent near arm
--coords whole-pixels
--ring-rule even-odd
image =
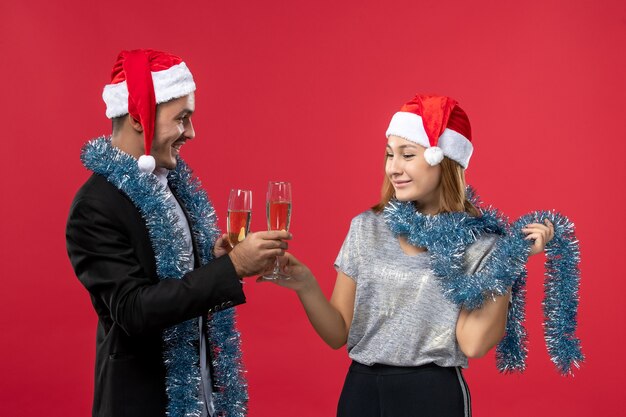
[[[137,242],[131,242],[131,231],[109,205],[91,198],[76,200],[66,230],[70,261],[101,318],[108,316],[135,335],[245,302],[229,256],[182,279],[150,276],[133,247]]]

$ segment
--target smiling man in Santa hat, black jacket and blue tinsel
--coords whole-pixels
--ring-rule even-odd
[[[270,268],[290,235],[252,233],[228,252],[179,158],[195,135],[194,91],[179,57],[121,52],[103,92],[112,135],[83,148],[93,175],[66,237],[98,314],[94,416],[246,413],[230,307],[245,302],[241,278]]]

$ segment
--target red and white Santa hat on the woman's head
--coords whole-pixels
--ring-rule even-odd
[[[467,168],[474,150],[467,114],[445,96],[416,95],[391,118],[386,136],[392,135],[425,147],[424,158],[433,166],[447,156]]]

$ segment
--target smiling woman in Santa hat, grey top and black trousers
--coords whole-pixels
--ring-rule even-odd
[[[471,153],[469,119],[457,102],[416,96],[391,120],[381,201],[352,220],[335,262],[338,275],[330,301],[310,270],[291,254],[285,256],[292,279],[275,282],[295,290],[320,337],[334,349],[347,343],[353,360],[338,416],[471,415],[461,368],[467,367],[467,358],[485,355],[502,339],[510,287],[485,294],[481,307],[473,310],[450,301],[441,273],[433,270],[439,243],[450,240],[447,229],[440,236],[438,230],[429,232],[429,247],[415,246],[407,235],[392,232],[393,222],[400,220],[385,211],[393,202],[410,202],[426,221],[459,212],[467,214],[464,219],[480,218],[465,195],[464,169]],[[554,235],[548,221],[528,224],[523,232],[534,241],[532,254],[543,251]],[[485,232],[466,245],[465,274],[485,272],[498,239]]]

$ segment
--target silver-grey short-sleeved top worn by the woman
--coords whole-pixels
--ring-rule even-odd
[[[497,239],[484,235],[467,248],[468,272],[481,267]],[[351,359],[365,365],[467,367],[456,340],[459,307],[444,298],[429,254],[406,255],[382,215],[368,210],[352,220],[335,268],[356,282]]]

